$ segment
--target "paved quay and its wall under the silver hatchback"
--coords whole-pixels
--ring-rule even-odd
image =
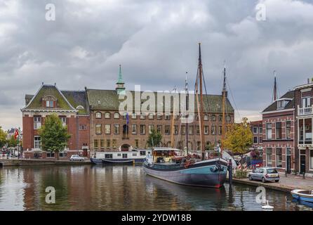
[[[227,179],[228,181],[228,179]],[[279,182],[267,182],[262,183],[262,181],[249,181],[249,179],[238,179],[233,178],[233,183],[237,184],[247,184],[250,186],[263,186],[265,188],[269,188],[277,191],[284,191],[290,193],[294,189],[303,189],[303,190],[313,190],[313,179],[307,178],[303,179],[302,176],[295,176],[288,174],[287,177],[285,175],[280,174]]]

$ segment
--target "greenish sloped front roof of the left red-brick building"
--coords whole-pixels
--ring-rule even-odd
[[[29,95],[27,96],[29,97]],[[25,99],[27,96],[25,96]],[[49,84],[42,84],[39,91],[37,91],[37,93],[32,97],[32,100],[29,101],[25,108],[22,108],[21,110],[51,110],[51,108],[43,107],[42,98],[44,98],[44,96],[54,96],[58,99],[57,108],[53,108],[53,110],[76,111],[57,86]]]

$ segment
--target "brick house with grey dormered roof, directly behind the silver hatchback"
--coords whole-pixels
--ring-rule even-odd
[[[294,93],[274,99],[262,112],[263,165],[288,173],[297,171]]]

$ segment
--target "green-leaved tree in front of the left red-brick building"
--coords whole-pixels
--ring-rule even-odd
[[[57,154],[65,148],[67,141],[71,137],[67,133],[67,126],[63,126],[60,118],[56,114],[46,117],[44,125],[39,129],[41,137],[41,148]]]

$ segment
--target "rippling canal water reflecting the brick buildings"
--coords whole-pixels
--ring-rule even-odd
[[[46,188],[55,203],[46,203]],[[0,210],[262,210],[255,187],[195,188],[147,176],[140,166],[0,168]],[[274,210],[313,210],[291,195],[266,191]]]

